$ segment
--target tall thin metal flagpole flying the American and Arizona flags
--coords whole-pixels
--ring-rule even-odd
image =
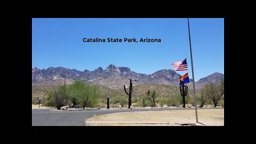
[[[196,110],[196,122],[198,122],[198,117],[197,117],[197,104],[196,104],[196,86],[195,86],[195,77],[194,77],[194,67],[193,67],[192,49],[191,49],[191,39],[190,39],[189,20],[188,20],[188,35],[189,35],[190,58],[191,58],[192,77],[193,77],[193,94],[194,94],[195,110]]]

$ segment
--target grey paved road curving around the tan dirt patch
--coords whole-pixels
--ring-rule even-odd
[[[120,113],[125,111],[152,111],[152,110],[181,110],[194,108],[136,108],[136,109],[100,109],[100,110],[83,110],[83,111],[50,111],[51,109],[33,109],[32,125],[33,126],[83,126],[84,119],[94,115],[103,115],[110,113]],[[209,108],[198,108],[209,109]],[[211,109],[219,109],[211,108]]]

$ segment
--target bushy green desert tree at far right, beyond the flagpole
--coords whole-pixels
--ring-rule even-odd
[[[220,83],[208,83],[204,86],[205,94],[210,98],[214,107],[217,106],[218,101],[224,96],[224,80],[221,80]]]

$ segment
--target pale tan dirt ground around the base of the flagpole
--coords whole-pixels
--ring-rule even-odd
[[[132,111],[106,114],[85,119],[86,126],[223,126],[224,109],[195,109],[164,111]]]

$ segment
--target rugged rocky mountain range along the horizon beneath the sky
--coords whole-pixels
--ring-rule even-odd
[[[153,74],[140,74],[131,71],[128,67],[116,67],[109,65],[105,70],[99,67],[93,71],[85,69],[79,71],[63,67],[49,67],[47,69],[32,68],[32,85],[62,85],[64,84],[66,71],[66,84],[82,79],[91,84],[100,84],[110,89],[122,89],[123,85],[129,86],[129,79],[132,78],[133,86],[141,84],[160,84],[178,86],[180,74],[171,69],[158,70]],[[201,78],[196,82],[196,89],[201,89],[206,83],[218,83],[224,79],[221,73],[213,73]],[[192,79],[188,83],[189,89],[193,89]]]

